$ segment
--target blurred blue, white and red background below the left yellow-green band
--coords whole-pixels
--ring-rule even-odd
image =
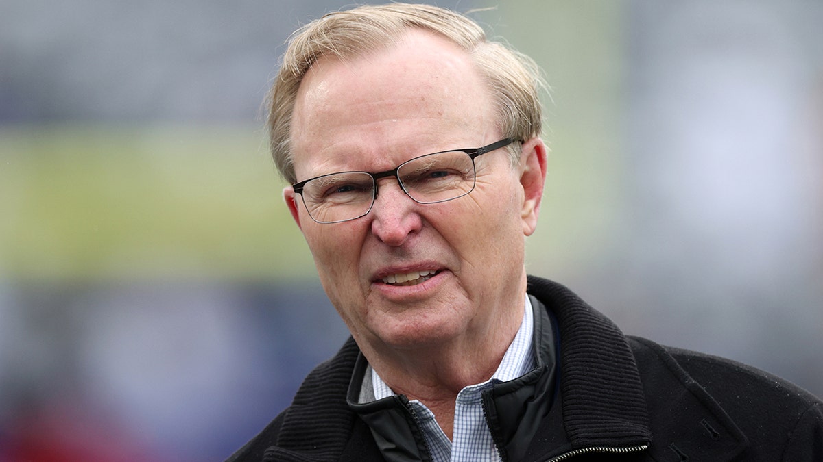
[[[49,447],[73,460],[219,459],[285,408],[347,336],[310,281],[6,284],[2,293],[0,306],[26,307],[0,318],[2,446],[26,455],[8,460]],[[323,335],[306,341],[306,332]]]

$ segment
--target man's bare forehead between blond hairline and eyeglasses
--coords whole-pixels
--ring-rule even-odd
[[[468,53],[410,31],[388,49],[314,64],[292,115],[295,172],[374,169],[381,160],[390,168],[414,155],[480,146],[495,129],[490,114],[489,92]]]

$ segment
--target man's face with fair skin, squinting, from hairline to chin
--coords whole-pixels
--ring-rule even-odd
[[[467,54],[418,31],[386,51],[317,62],[300,85],[291,133],[299,181],[389,170],[503,137]],[[382,178],[370,213],[343,223],[315,223],[291,187],[284,190],[323,288],[361,348],[481,339],[512,310],[522,313],[523,235],[534,229],[545,167],[542,143],[524,146],[540,158],[531,161],[537,193],[534,178],[522,182],[534,170],[529,161],[513,168],[507,150],[477,158],[468,196],[422,205],[395,178]],[[411,282],[386,282],[407,274]]]

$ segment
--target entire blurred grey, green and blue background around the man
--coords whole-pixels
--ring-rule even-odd
[[[0,460],[222,460],[342,344],[260,108],[350,3],[0,0]],[[435,3],[552,87],[529,272],[823,395],[823,3]]]

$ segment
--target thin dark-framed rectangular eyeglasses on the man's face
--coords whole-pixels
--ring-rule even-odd
[[[435,204],[466,196],[474,190],[478,155],[509,146],[512,138],[475,149],[444,150],[421,155],[380,173],[329,173],[291,185],[303,197],[311,219],[340,223],[368,214],[377,198],[377,180],[398,178],[402,190],[420,204]]]

